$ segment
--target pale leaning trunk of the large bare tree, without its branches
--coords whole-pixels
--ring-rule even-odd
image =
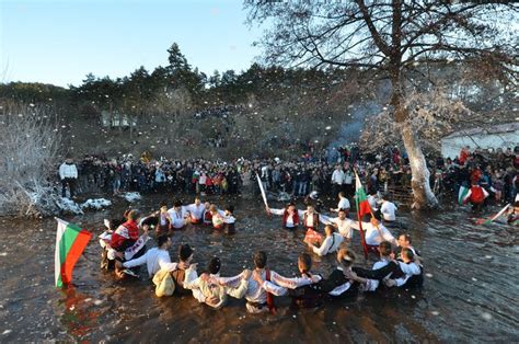
[[[416,133],[413,131],[413,128],[407,123],[404,123],[402,126],[402,139],[411,164],[411,186],[414,198],[412,208],[436,208],[438,199],[436,199],[435,194],[430,190],[429,169],[427,168]]]

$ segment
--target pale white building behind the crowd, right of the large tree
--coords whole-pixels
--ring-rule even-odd
[[[460,150],[469,146],[473,151],[476,148],[504,151],[519,145],[519,122],[499,124],[487,128],[471,128],[452,133],[441,139],[441,154],[454,159]]]

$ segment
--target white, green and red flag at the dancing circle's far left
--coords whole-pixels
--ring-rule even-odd
[[[68,285],[72,280],[72,270],[79,256],[83,253],[92,233],[77,225],[56,218],[55,282],[56,287]]]

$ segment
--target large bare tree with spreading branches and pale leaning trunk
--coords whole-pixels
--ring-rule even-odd
[[[391,81],[391,118],[410,157],[416,207],[438,204],[405,106],[423,60],[455,59],[498,70],[517,82],[518,36],[508,33],[518,4],[486,1],[245,0],[250,23],[268,23],[261,44],[272,65],[355,67]],[[426,76],[425,76],[426,77]]]

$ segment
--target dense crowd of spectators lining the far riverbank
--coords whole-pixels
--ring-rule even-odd
[[[327,152],[301,154],[297,159],[205,159],[173,160],[131,154],[106,159],[88,156],[76,162],[80,192],[241,194],[257,193],[256,173],[269,192],[304,197],[319,192],[335,197],[355,193],[355,172],[369,194],[401,190],[411,193],[411,167],[405,152],[389,147],[378,153],[361,154],[357,147],[339,147],[331,159]],[[459,157],[428,159],[430,185],[437,195],[455,194],[472,181],[485,187],[497,203],[511,202],[518,190],[519,147],[506,151],[470,151]],[[455,199],[455,197],[453,198]]]

